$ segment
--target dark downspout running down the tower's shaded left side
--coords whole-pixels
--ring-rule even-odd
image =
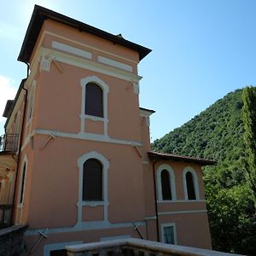
[[[26,63],[26,79],[28,78],[29,75],[29,64]],[[18,174],[19,174],[19,168],[20,168],[20,152],[21,152],[21,147],[22,147],[22,137],[23,137],[23,131],[24,131],[24,124],[25,124],[25,116],[26,116],[26,102],[27,102],[27,90],[26,88],[24,88],[24,84],[22,86],[22,89],[25,90],[26,95],[24,97],[24,112],[23,112],[23,116],[22,116],[22,125],[21,125],[21,131],[20,131],[20,145],[19,145],[19,151],[18,151],[18,160],[17,160],[17,167],[16,167],[16,177],[15,177],[15,191],[14,191],[14,197],[13,197],[13,211],[12,211],[12,224],[15,224],[15,197],[17,195],[17,183],[18,183]]]

